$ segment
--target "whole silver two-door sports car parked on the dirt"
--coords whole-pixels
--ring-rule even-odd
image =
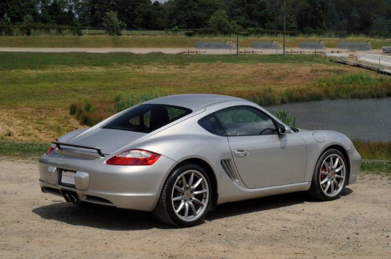
[[[237,200],[296,191],[335,199],[360,165],[345,135],[291,128],[253,102],[221,95],[154,99],[51,143],[39,159],[43,192],[153,211],[183,227]]]

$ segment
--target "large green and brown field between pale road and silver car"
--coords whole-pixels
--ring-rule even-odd
[[[81,127],[69,115],[71,103],[119,94],[221,93],[279,103],[341,98],[335,93],[349,90],[387,96],[391,81],[313,55],[0,52],[0,140],[54,139]]]

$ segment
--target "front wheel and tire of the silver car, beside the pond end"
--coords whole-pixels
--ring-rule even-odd
[[[309,194],[320,200],[336,199],[345,188],[347,177],[348,168],[341,152],[326,150],[315,165]]]

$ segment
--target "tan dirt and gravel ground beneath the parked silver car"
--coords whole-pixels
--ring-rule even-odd
[[[41,193],[36,162],[0,157],[0,258],[391,258],[391,181],[360,177],[333,202],[303,193],[221,205],[180,229],[152,213]]]

